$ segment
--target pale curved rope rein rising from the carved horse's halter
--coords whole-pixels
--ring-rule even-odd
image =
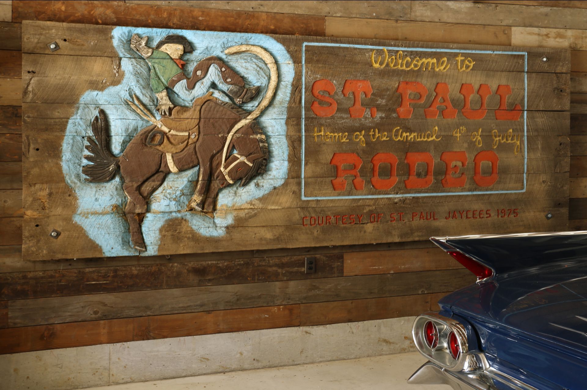
[[[255,54],[256,56],[261,57],[261,59],[263,61],[265,61],[265,64],[269,68],[269,85],[267,85],[267,91],[265,93],[265,96],[261,99],[261,102],[259,102],[259,105],[257,106],[257,108],[255,108],[255,110],[251,111],[251,113],[249,115],[247,115],[247,117],[242,118],[240,121],[238,121],[238,123],[236,125],[234,125],[234,127],[232,128],[230,133],[228,133],[226,143],[224,144],[224,150],[222,150],[222,169],[223,170],[224,170],[224,162],[226,161],[226,158],[227,158],[228,146],[231,143],[232,136],[239,129],[241,129],[243,126],[246,126],[250,122],[254,121],[259,115],[261,115],[261,112],[263,112],[263,110],[265,110],[265,108],[267,108],[267,106],[269,105],[269,103],[271,102],[271,100],[273,99],[273,97],[275,95],[275,90],[277,88],[277,80],[278,80],[277,64],[275,63],[275,59],[267,50],[263,49],[262,47],[254,46],[254,45],[237,45],[237,46],[229,47],[228,49],[226,49],[224,51],[224,53],[226,53],[226,54],[252,53],[252,54]]]

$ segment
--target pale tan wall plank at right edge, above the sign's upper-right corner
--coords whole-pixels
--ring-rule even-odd
[[[571,50],[587,50],[587,30],[531,27],[512,27],[511,29],[512,46],[568,47]]]

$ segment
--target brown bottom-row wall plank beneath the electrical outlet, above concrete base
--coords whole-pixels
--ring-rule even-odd
[[[472,279],[472,278],[471,278]],[[302,326],[418,316],[430,310],[430,294],[300,305]]]

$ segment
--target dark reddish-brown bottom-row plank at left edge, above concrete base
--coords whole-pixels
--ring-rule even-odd
[[[133,319],[87,321],[0,330],[0,354],[123,343],[133,340]]]

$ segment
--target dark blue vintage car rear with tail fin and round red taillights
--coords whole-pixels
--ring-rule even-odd
[[[587,389],[587,232],[431,238],[477,275],[412,329],[410,384]]]

